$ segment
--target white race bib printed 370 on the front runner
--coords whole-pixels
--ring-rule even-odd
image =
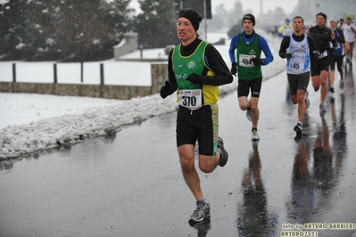
[[[202,108],[202,90],[179,90],[178,104],[189,110]]]

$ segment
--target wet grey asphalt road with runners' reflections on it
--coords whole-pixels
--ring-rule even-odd
[[[236,92],[220,98],[219,135],[229,160],[199,173],[211,203],[211,219],[203,223],[188,222],[195,200],[181,175],[171,113],[124,127],[115,138],[2,162],[0,236],[254,237],[281,236],[287,224],[294,225],[290,231],[295,224],[356,224],[355,71],[346,74],[344,90],[336,76],[323,117],[319,92],[309,87],[306,135],[297,142],[285,72],[263,82],[257,147]]]

